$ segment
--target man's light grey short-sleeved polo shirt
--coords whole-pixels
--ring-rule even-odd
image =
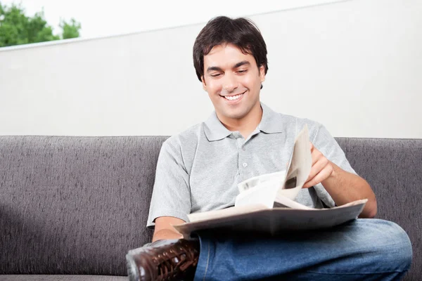
[[[263,103],[261,107],[261,122],[247,139],[238,131],[226,129],[213,112],[206,122],[163,143],[148,228],[153,228],[155,218],[160,216],[188,221],[186,214],[233,206],[238,183],[286,169],[295,136],[305,124],[315,148],[340,168],[356,174],[324,126],[276,113]],[[300,190],[295,201],[314,208],[334,206],[321,184]]]

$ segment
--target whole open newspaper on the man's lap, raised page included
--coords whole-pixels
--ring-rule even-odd
[[[189,222],[174,228],[184,237],[205,229],[282,233],[329,228],[357,218],[367,202],[357,200],[330,209],[313,209],[295,197],[307,181],[312,156],[307,126],[295,138],[286,171],[249,178],[238,184],[234,207],[188,214]]]

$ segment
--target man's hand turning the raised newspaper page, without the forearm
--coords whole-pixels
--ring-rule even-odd
[[[303,188],[310,188],[322,183],[333,174],[333,165],[326,157],[317,150],[311,143],[312,169]]]

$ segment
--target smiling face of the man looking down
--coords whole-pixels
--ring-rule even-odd
[[[218,45],[204,55],[203,88],[221,121],[242,119],[260,106],[264,66],[233,44]]]

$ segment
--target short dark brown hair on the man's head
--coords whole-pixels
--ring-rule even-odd
[[[258,67],[264,65],[267,74],[267,45],[255,23],[247,18],[219,16],[207,22],[193,44],[193,65],[199,81],[204,75],[204,55],[222,44],[234,44],[242,53],[252,55]]]

